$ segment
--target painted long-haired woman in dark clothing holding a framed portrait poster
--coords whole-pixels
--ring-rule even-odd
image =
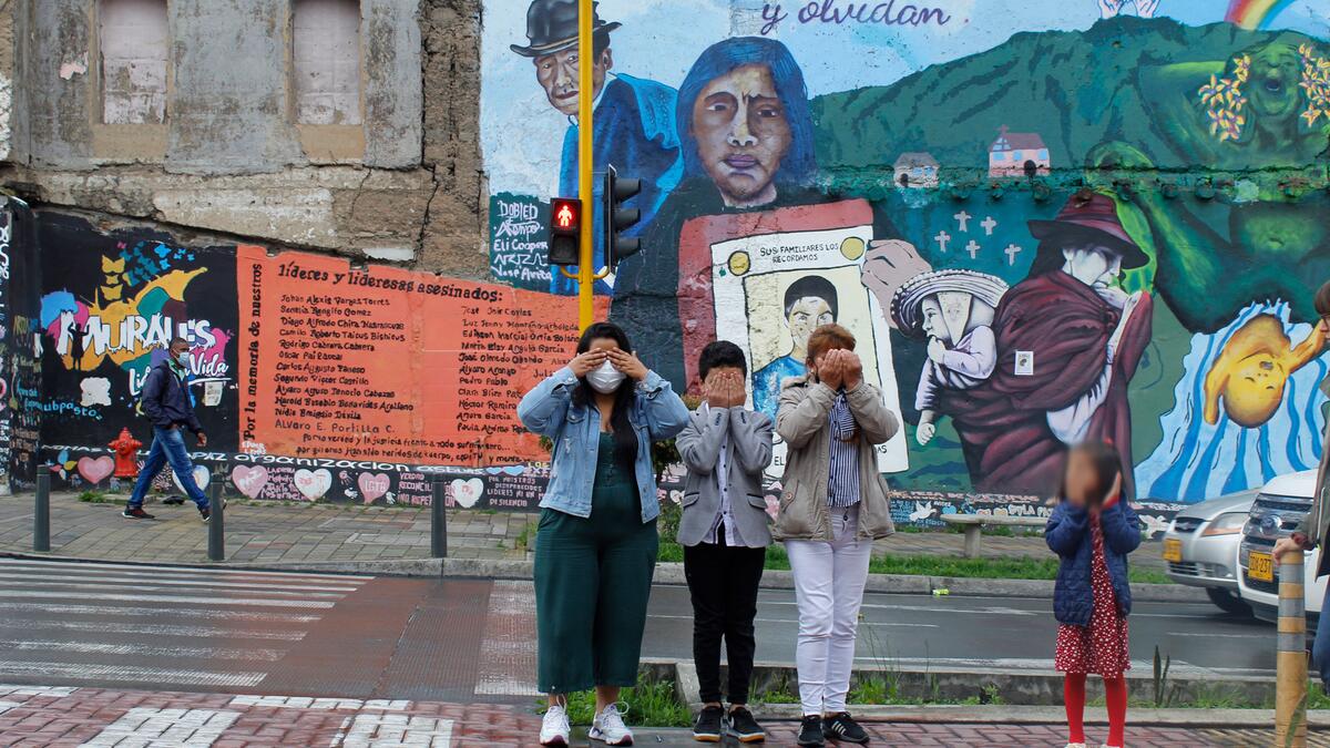
[[[779,381],[803,373],[807,331],[831,317],[880,342],[874,355],[894,397],[886,329],[874,333],[886,319],[880,293],[861,270],[904,242],[876,238],[895,230],[868,201],[810,186],[813,118],[789,49],[765,37],[705,49],[680,87],[677,128],[684,181],[642,253],[620,265],[610,307],[610,319],[645,341],[644,361],[682,390],[696,385],[701,346],[733,339],[751,361],[754,407],[774,413]],[[928,269],[907,254],[875,280],[887,298]]]

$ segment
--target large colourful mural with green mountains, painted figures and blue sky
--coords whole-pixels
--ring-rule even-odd
[[[535,116],[529,72],[507,60],[535,5],[485,8],[491,189],[539,206],[571,162],[541,142],[568,122]],[[1330,8],[597,12],[621,23],[616,69],[678,92],[677,184],[597,290],[681,390],[702,345],[733,339],[751,405],[771,411],[807,331],[835,321],[906,417],[882,467],[911,495],[1045,495],[1085,438],[1112,441],[1129,490],[1160,507],[1315,466]],[[495,277],[533,287],[503,274],[517,254],[492,242]]]

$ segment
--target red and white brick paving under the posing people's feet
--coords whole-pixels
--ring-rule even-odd
[[[769,723],[769,745],[793,745],[793,723]],[[1061,725],[867,724],[878,745],[1053,747],[1065,744]],[[497,704],[444,704],[234,696],[149,691],[106,691],[0,685],[0,744],[7,747],[360,747],[451,748],[535,745],[540,717],[532,709]],[[637,732],[638,745],[696,745],[686,731]],[[1092,744],[1105,729],[1091,727]],[[1133,748],[1261,745],[1258,729],[1182,729],[1128,725]],[[587,745],[585,739],[575,745]],[[1314,732],[1310,745],[1330,745]]]

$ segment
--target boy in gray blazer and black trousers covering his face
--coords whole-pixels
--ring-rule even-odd
[[[771,544],[762,471],[771,463],[771,419],[745,407],[747,362],[729,341],[702,349],[698,361],[705,402],[676,445],[688,478],[678,542],[693,599],[693,660],[702,713],[693,737],[718,741],[724,723],[742,743],[765,739],[749,712],[753,619],[766,547]],[[721,638],[729,652],[729,701],[721,701]]]

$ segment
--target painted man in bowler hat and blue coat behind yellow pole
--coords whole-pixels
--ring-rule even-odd
[[[595,196],[600,200],[598,173],[613,164],[624,177],[642,180],[642,192],[626,206],[642,212],[641,220],[625,236],[634,236],[650,225],[661,202],[684,174],[680,157],[678,133],[674,129],[674,101],[678,93],[656,81],[612,73],[614,56],[609,48],[609,33],[620,23],[605,23],[595,9],[592,20],[592,106],[593,152],[592,169],[597,172]],[[527,11],[528,45],[512,44],[523,57],[536,65],[536,81],[545,89],[549,105],[568,117],[564,134],[563,158],[559,166],[559,194],[577,196],[577,0],[535,0]],[[596,270],[605,266],[604,224],[601,212],[595,213]],[[551,276],[549,291],[576,294],[577,282],[557,270]],[[596,282],[596,293],[610,293],[604,282]]]

